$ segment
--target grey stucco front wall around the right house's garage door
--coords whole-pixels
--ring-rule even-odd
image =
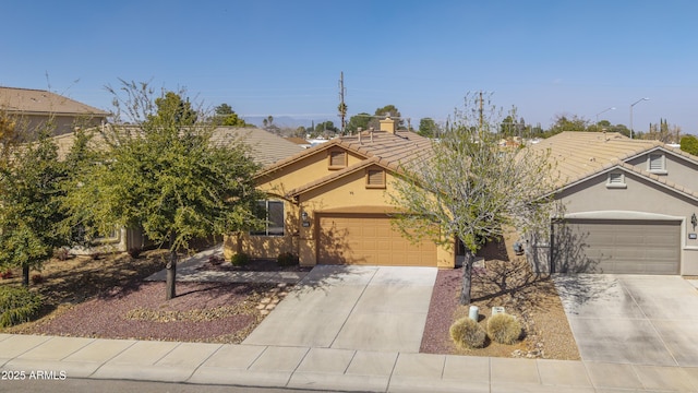
[[[690,225],[690,216],[698,212],[698,203],[663,186],[623,171],[625,189],[606,187],[606,174],[567,188],[557,194],[566,215],[587,213],[587,217],[612,219],[681,221],[682,270],[684,275],[698,274],[698,240],[688,239],[688,234],[698,231]],[[650,214],[651,216],[647,216]]]

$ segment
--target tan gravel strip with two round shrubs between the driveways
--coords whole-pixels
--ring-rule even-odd
[[[460,306],[458,298],[462,269],[441,270],[432,293],[420,352],[492,357],[579,359],[567,317],[549,277],[531,273],[524,258],[512,261],[488,259],[473,270],[472,303]],[[484,348],[460,349],[448,329],[458,318],[468,317],[470,306],[479,308],[479,323],[486,329],[492,307],[504,307],[522,324],[522,340],[514,345],[486,342]]]

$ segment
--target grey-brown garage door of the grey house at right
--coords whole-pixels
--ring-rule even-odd
[[[552,246],[558,273],[678,274],[681,222],[567,219]]]

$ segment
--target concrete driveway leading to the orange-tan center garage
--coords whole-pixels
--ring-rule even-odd
[[[419,353],[436,271],[315,266],[242,344]]]

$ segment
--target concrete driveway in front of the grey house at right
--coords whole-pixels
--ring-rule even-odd
[[[698,290],[679,276],[554,277],[582,360],[698,367]]]

